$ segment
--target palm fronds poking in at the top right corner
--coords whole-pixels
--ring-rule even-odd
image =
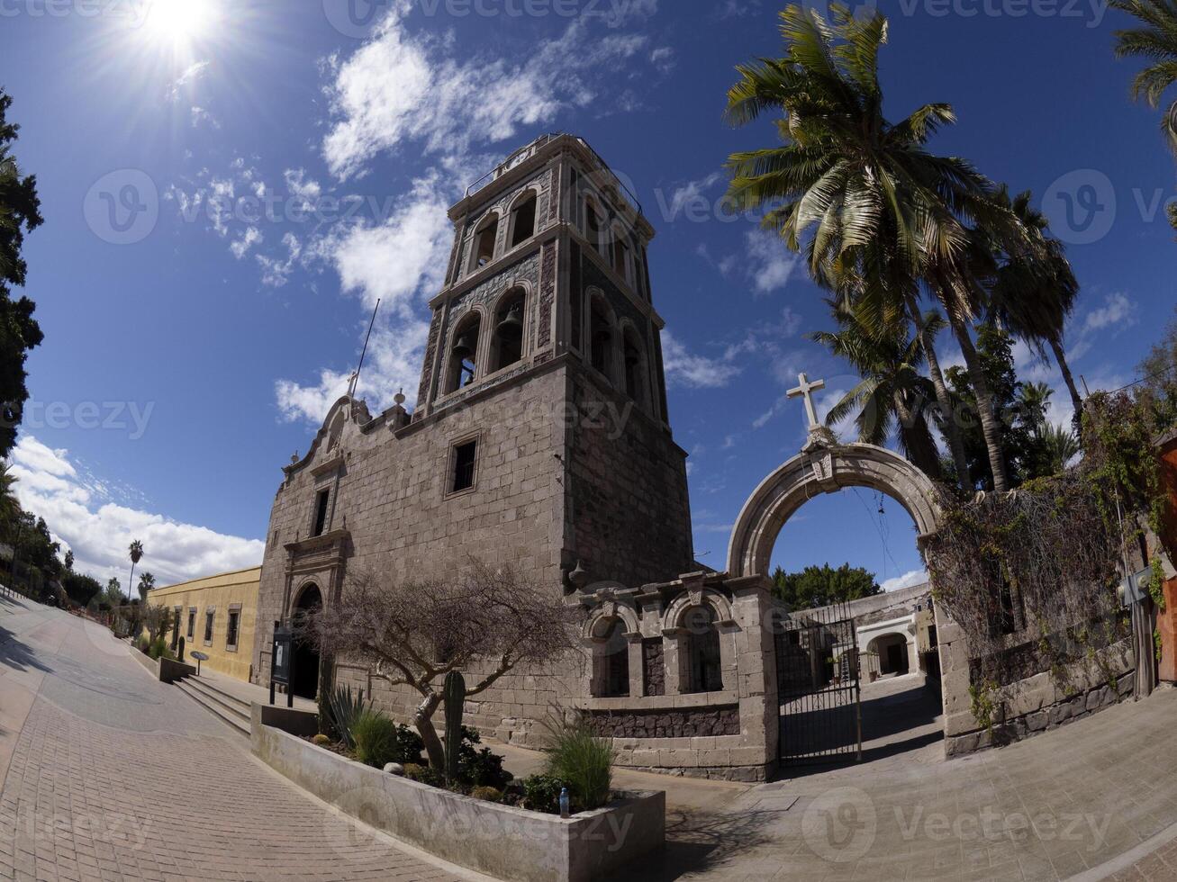
[[[1173,0],[1111,0],[1144,25],[1116,32],[1116,58],[1144,58],[1149,66],[1132,80],[1132,98],[1144,98],[1150,107],[1161,105],[1165,91],[1177,83],[1177,4]],[[1161,118],[1161,133],[1177,153],[1177,101]],[[1173,212],[1170,211],[1170,218]]]

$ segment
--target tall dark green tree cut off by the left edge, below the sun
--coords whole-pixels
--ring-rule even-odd
[[[28,400],[25,360],[44,340],[33,319],[33,301],[27,296],[12,299],[12,289],[25,286],[28,269],[21,256],[25,234],[42,219],[36,178],[22,178],[12,155],[20,127],[7,120],[11,106],[12,98],[0,88],[0,457],[16,443],[16,427]]]

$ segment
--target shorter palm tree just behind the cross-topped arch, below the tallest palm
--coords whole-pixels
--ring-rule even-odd
[[[849,361],[863,380],[830,409],[826,423],[840,422],[858,410],[855,425],[859,441],[882,446],[896,432],[907,459],[930,477],[940,480],[939,455],[924,413],[925,402],[936,392],[920,373],[924,354],[918,335],[911,336],[905,323],[878,333],[838,301],[829,303],[840,330],[820,330],[810,339]],[[937,313],[929,313],[920,323],[933,338],[943,327],[944,320]]]

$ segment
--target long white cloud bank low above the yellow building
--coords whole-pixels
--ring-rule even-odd
[[[32,435],[20,436],[11,461],[19,479],[20,505],[45,519],[62,543],[62,553],[73,550],[77,570],[102,582],[114,575],[126,584],[127,546],[133,539],[146,549],[137,572],[153,573],[158,584],[261,562],[265,543],[260,540],[225,535],[107,500],[105,483],[88,477],[68,450],[52,449]]]

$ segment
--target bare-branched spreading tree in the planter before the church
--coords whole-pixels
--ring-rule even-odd
[[[304,628],[324,655],[367,663],[420,695],[413,722],[430,764],[443,768],[433,713],[445,675],[470,677],[470,697],[519,664],[554,662],[574,646],[576,617],[557,587],[544,590],[510,566],[472,559],[450,580],[397,583],[353,569],[341,597]]]

